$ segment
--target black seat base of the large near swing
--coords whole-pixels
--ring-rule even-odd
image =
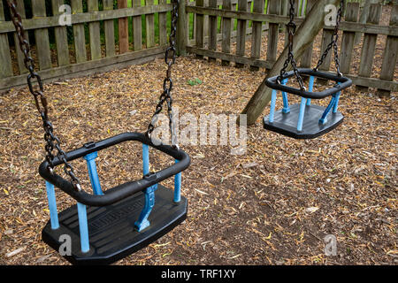
[[[50,221],[42,230],[42,240],[59,250],[62,234],[71,236],[72,255],[64,256],[72,264],[111,264],[149,245],[170,232],[187,218],[188,202],[181,196],[173,203],[173,190],[157,185],[155,205],[149,215],[150,226],[142,232],[134,229],[145,203],[142,192],[118,203],[103,207],[87,207],[90,250],[80,251],[77,206],[58,214],[59,228],[52,230]]]

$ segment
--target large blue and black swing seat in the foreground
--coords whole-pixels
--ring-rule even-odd
[[[121,142],[142,143],[143,178],[103,191],[96,171],[97,152]],[[149,147],[175,159],[175,164],[159,172],[149,172]],[[72,264],[111,264],[156,241],[187,218],[188,202],[180,195],[181,172],[190,158],[181,149],[155,145],[145,134],[125,133],[101,142],[89,142],[66,154],[67,161],[83,157],[88,164],[94,195],[78,191],[73,184],[48,170],[47,161],[39,172],[46,180],[50,220],[42,230],[42,240],[57,251],[72,240],[72,253],[65,258]],[[54,166],[63,164],[54,160]],[[174,190],[159,184],[174,176]],[[54,187],[71,195],[77,204],[57,213]]]

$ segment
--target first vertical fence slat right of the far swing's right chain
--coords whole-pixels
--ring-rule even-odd
[[[348,3],[346,10],[346,22],[358,21],[359,3]],[[351,60],[354,50],[354,41],[356,33],[343,32],[341,39],[341,53],[340,53],[340,71],[341,73],[348,74],[351,69]]]

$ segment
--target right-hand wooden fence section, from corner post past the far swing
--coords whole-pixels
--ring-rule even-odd
[[[296,22],[299,24],[305,17],[303,11],[310,11],[311,6],[316,0],[296,1],[295,11],[301,12],[296,15]],[[275,63],[278,54],[279,27],[281,24],[288,22],[288,17],[284,11],[284,4],[287,1],[281,0],[253,0],[252,11],[248,11],[247,0],[239,0],[236,9],[230,4],[230,1],[210,0],[208,6],[203,5],[203,0],[196,0],[195,4],[188,4],[186,11],[194,13],[195,22],[195,42],[190,42],[187,50],[195,53],[199,57],[209,57],[210,60],[219,59],[223,65],[229,65],[233,62],[235,66],[249,65],[252,69],[259,67],[271,69]],[[264,7],[267,4],[267,7]],[[220,8],[219,5],[222,5]],[[302,6],[301,6],[302,5]],[[286,7],[285,7],[286,10]],[[390,91],[398,91],[398,82],[394,81],[394,73],[396,70],[396,58],[398,53],[398,5],[394,5],[391,11],[391,19],[389,26],[379,25],[381,17],[382,5],[371,4],[369,7],[369,16],[366,23],[358,23],[360,13],[360,3],[349,2],[345,12],[345,17],[341,23],[342,39],[340,47],[341,56],[341,72],[353,80],[353,83],[365,90],[366,88],[378,88],[380,95],[387,95]],[[285,13],[285,15],[284,15]],[[209,23],[206,27],[203,23],[203,16],[209,16]],[[219,48],[216,44],[218,37],[215,33],[217,29],[218,19],[221,20],[222,42]],[[237,20],[237,38],[236,50],[231,52],[230,34],[233,25],[231,21]],[[242,32],[242,28],[252,22],[251,50],[246,52],[247,36]],[[267,31],[267,47],[266,59],[260,58],[261,41],[264,31],[261,28],[264,22],[268,23]],[[334,27],[325,26],[322,31],[321,51],[325,50],[326,45],[330,42]],[[203,30],[209,30],[209,43],[207,46],[203,42]],[[355,36],[356,34],[364,34],[362,50],[360,54],[355,54]],[[378,78],[371,77],[372,67],[374,64],[375,47],[378,36],[385,39],[385,50],[383,54],[383,62],[378,74]],[[250,53],[248,56],[247,53]],[[352,71],[352,59],[354,56],[360,57],[360,65],[358,72]],[[313,46],[305,52],[300,60],[302,67],[310,67],[311,59],[314,56]],[[331,56],[325,58],[325,63],[320,69],[329,71],[331,68]]]

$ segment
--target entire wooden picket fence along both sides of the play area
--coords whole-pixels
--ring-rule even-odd
[[[180,15],[186,15],[180,17],[179,22],[180,31],[183,30],[180,33],[183,36],[179,36],[182,54],[187,50],[197,57],[219,59],[223,65],[231,62],[237,67],[249,65],[252,70],[272,68],[278,56],[279,34],[288,21],[287,0],[180,1]],[[315,1],[295,1],[297,23],[302,22]],[[378,88],[382,94],[397,91],[398,83],[394,81],[398,53],[397,5],[393,6],[389,26],[381,26],[379,4],[369,7],[365,23],[358,22],[360,4],[366,1],[349,1],[347,5],[341,23],[341,71],[348,74],[358,88]],[[30,34],[34,59],[38,62],[36,67],[44,80],[104,72],[164,56],[172,11],[170,0],[118,0],[116,7],[114,0],[29,2],[32,9],[28,17],[23,0],[18,0],[18,9]],[[72,7],[72,27],[59,22],[62,13],[58,11],[59,6],[65,3]],[[132,3],[132,7],[128,7],[128,3]],[[6,9],[5,0],[0,0],[0,92],[24,85],[27,72],[23,54],[16,48],[17,37]],[[322,33],[324,50],[333,27],[324,27]],[[355,54],[356,34],[364,34],[361,54]],[[267,36],[265,50],[263,35]],[[371,72],[378,36],[384,36],[386,47],[375,78]],[[246,50],[247,42],[251,42],[251,50]],[[310,46],[301,58],[301,66],[310,67],[313,56],[314,46]],[[354,56],[361,57],[357,73],[352,72]],[[329,70],[331,61],[326,57],[322,70]]]

